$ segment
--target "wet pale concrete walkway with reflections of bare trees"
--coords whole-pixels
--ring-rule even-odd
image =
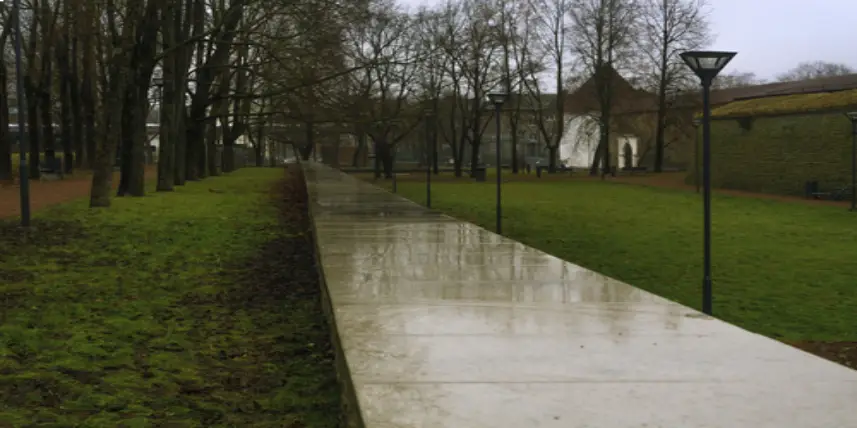
[[[367,427],[857,427],[857,371],[306,171]]]

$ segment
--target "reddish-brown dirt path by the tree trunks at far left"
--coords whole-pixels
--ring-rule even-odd
[[[154,167],[146,169],[147,177],[154,177]],[[32,212],[51,205],[89,196],[92,174],[80,172],[58,181],[30,181],[30,207]],[[113,176],[113,188],[119,185],[119,173]],[[21,214],[21,189],[17,184],[0,184],[0,219]]]

